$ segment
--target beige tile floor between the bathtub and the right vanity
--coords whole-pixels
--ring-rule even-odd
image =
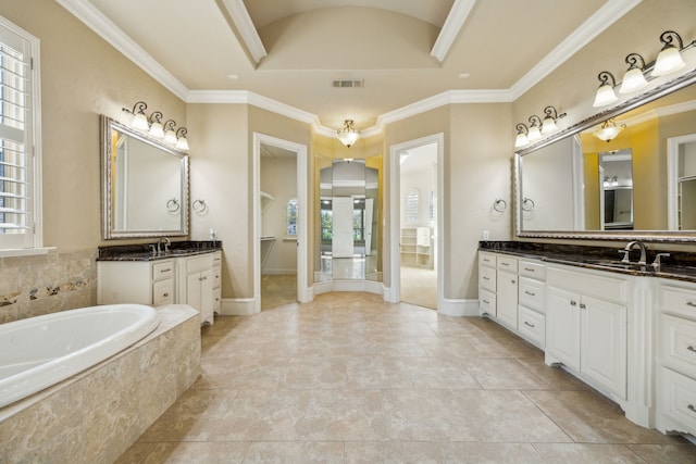
[[[497,324],[326,293],[203,328],[122,463],[695,463]]]

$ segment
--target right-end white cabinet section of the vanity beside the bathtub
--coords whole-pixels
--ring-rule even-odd
[[[200,311],[201,324],[213,323],[215,275],[220,278],[213,263],[219,256],[220,252],[214,252],[177,259],[177,301]]]

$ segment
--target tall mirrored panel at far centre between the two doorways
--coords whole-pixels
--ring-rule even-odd
[[[318,280],[380,279],[378,179],[366,160],[320,168]]]

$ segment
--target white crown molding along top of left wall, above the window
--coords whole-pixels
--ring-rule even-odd
[[[182,100],[186,98],[186,95],[188,93],[186,86],[174,77],[172,73],[166,71],[164,66],[158,63],[111,20],[97,10],[97,8],[95,8],[88,0],[55,1],[73,16],[94,30],[99,37],[119,50],[124,57],[133,61],[142,71],[152,76],[154,80],[166,87],[166,89],[176,97]]]

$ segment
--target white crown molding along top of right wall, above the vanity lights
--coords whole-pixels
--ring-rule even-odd
[[[523,96],[538,84],[544,77],[573,57],[592,39],[605,32],[614,22],[635,8],[643,0],[612,0],[581,24],[571,35],[561,41],[549,54],[544,57],[536,66],[510,87],[513,100]]]

